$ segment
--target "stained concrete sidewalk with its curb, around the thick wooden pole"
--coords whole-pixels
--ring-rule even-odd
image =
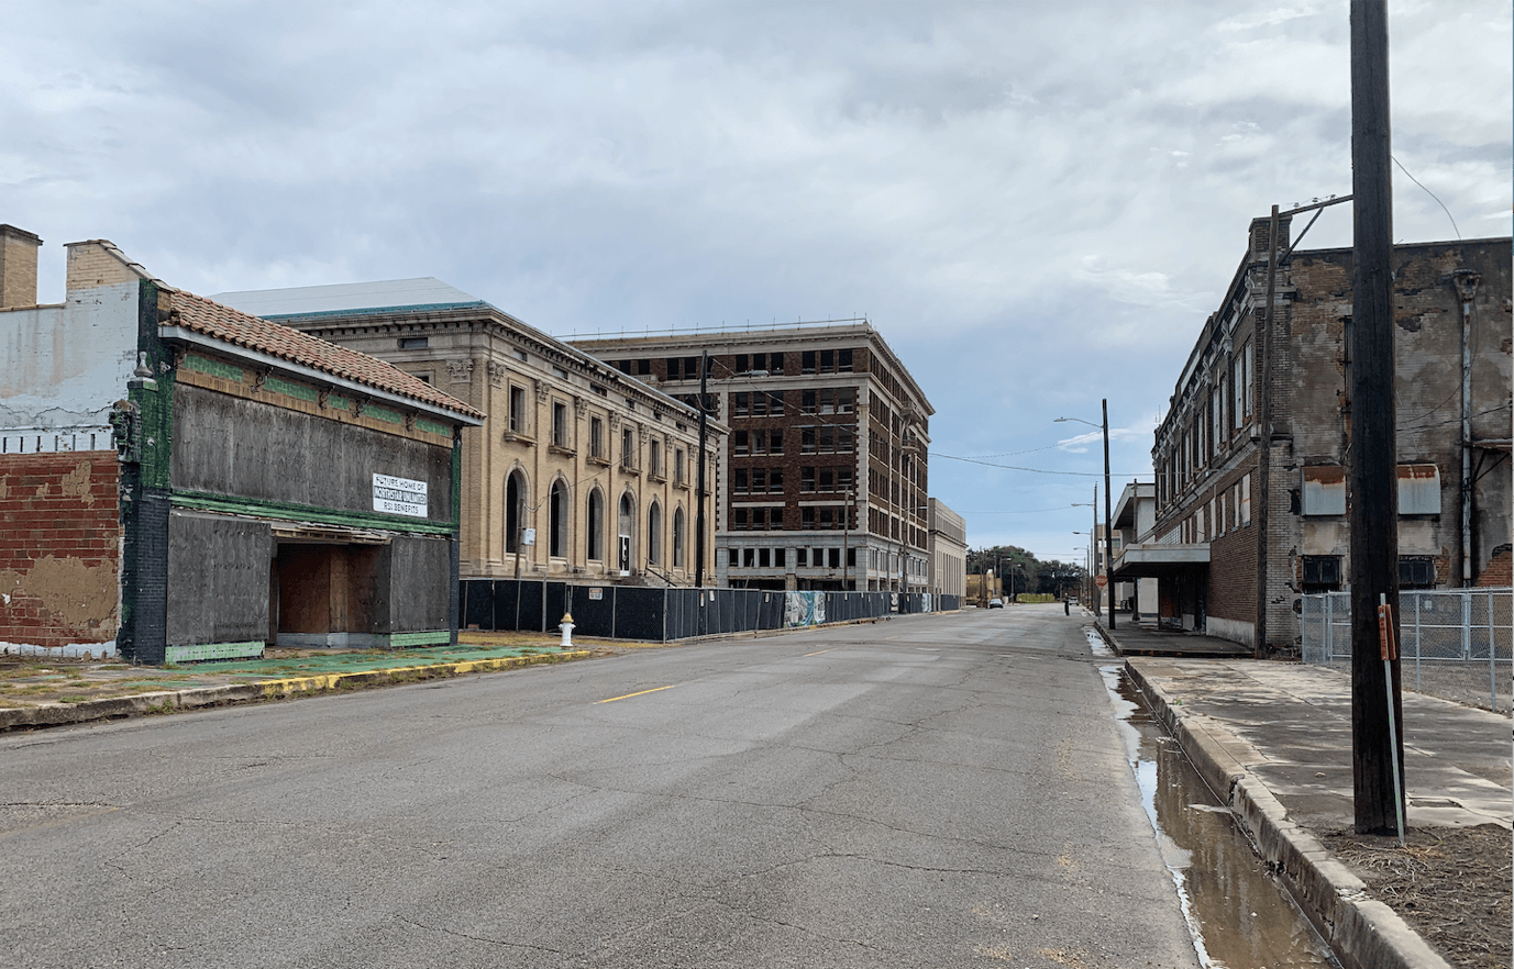
[[[1101,632],[1122,652],[1125,629]],[[1347,969],[1447,966],[1320,842],[1355,824],[1344,673],[1192,656],[1129,656],[1125,668]],[[1407,691],[1407,824],[1509,828],[1509,726],[1508,717]]]

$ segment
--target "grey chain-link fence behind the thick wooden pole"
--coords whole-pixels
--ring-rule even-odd
[[[1350,593],[1304,596],[1301,624],[1304,662],[1350,668]],[[1402,591],[1399,630],[1407,689],[1509,712],[1514,591]]]

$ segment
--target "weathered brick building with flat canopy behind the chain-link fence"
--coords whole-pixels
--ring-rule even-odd
[[[1117,564],[1160,579],[1164,621],[1261,655],[1294,649],[1299,596],[1341,588],[1350,544],[1352,251],[1291,251],[1278,225],[1272,246],[1252,222],[1182,367],[1152,449],[1157,520]],[[1508,574],[1509,259],[1509,239],[1393,249],[1403,588]]]

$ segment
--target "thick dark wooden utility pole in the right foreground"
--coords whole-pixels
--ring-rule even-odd
[[[1387,0],[1350,3],[1350,166],[1355,278],[1350,340],[1350,747],[1358,833],[1388,833],[1403,804],[1399,662],[1381,662],[1378,603],[1399,639],[1397,440],[1393,428],[1393,172]],[[1266,441],[1263,443],[1266,446]],[[1266,500],[1266,496],[1263,496]],[[1391,715],[1390,715],[1391,704]],[[1402,760],[1399,762],[1402,766]]]

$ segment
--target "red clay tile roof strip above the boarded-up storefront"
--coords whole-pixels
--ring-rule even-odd
[[[448,396],[425,381],[377,357],[329,343],[310,334],[271,324],[266,319],[233,310],[183,290],[173,290],[173,310],[168,327],[183,327],[235,346],[279,357],[289,363],[321,370],[375,390],[410,398],[431,407],[441,407],[468,417],[483,417],[483,413]]]

